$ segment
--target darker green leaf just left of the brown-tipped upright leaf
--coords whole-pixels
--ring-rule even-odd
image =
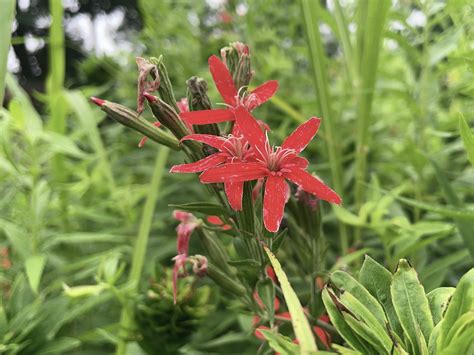
[[[392,284],[390,271],[366,255],[359,272],[359,282],[379,301],[385,310],[391,328],[401,337],[402,328],[390,294],[390,285]]]

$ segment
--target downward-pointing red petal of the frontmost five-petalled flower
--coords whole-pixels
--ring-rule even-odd
[[[263,222],[270,232],[278,232],[285,211],[288,184],[281,176],[269,176],[263,196]]]

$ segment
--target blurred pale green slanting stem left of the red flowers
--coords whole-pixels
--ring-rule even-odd
[[[163,180],[163,173],[165,171],[165,165],[168,159],[168,154],[169,149],[166,147],[161,147],[158,151],[158,156],[156,157],[155,167],[153,169],[153,176],[151,178],[150,187],[148,189],[149,194],[145,201],[140,226],[138,229],[137,240],[133,250],[132,267],[129,274],[129,282],[132,284],[132,294],[138,292],[138,286],[143,271],[143,264],[146,257],[151,223],[153,220],[153,215],[155,213],[155,203]],[[128,309],[125,305],[122,309],[122,314],[120,317],[120,339],[117,344],[117,355],[126,354],[126,336],[128,334],[128,331],[133,327],[133,318],[133,311]]]

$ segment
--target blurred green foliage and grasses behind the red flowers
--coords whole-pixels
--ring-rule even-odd
[[[161,150],[156,160],[162,148],[148,142],[138,149],[138,134],[87,101],[98,96],[135,108],[137,56],[164,56],[177,97],[198,75],[219,102],[207,58],[241,41],[250,47],[253,85],[280,82],[276,97],[255,111],[275,141],[313,115],[323,118],[307,157],[344,200],[344,209],[327,209],[326,270],[357,268],[364,253],[392,269],[408,257],[431,290],[454,285],[472,265],[474,148],[462,139],[469,142],[474,119],[472,2],[0,4],[16,7],[13,32],[10,11],[0,14],[0,63],[8,68],[0,120],[0,353],[113,352],[127,307],[146,324],[129,334],[130,354],[144,351],[138,343],[154,353],[157,336],[170,353],[183,345],[185,353],[259,347],[251,315],[209,280],[184,282],[189,304],[172,305],[166,267],[177,223],[169,204],[205,200],[206,191],[195,176],[168,174],[180,154]],[[157,186],[153,210],[144,201]],[[140,233],[150,235],[143,282],[130,292]],[[199,248],[192,240],[191,249]],[[304,298],[298,251],[286,243],[282,253]],[[150,328],[156,332],[147,334]]]

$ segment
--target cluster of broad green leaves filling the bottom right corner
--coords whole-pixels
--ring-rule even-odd
[[[323,301],[341,336],[361,353],[464,354],[474,346],[467,336],[474,330],[473,273],[456,289],[426,294],[406,260],[392,275],[367,256],[359,281],[344,271],[331,275]]]

